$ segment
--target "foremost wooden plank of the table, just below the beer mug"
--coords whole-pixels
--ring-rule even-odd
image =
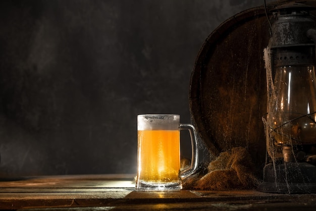
[[[11,193],[0,196],[2,209],[22,209],[34,207],[135,207],[165,204],[166,207],[192,204],[270,204],[292,203],[316,205],[315,194],[285,195],[266,194],[257,191],[213,192],[213,191],[127,191],[127,192],[79,192],[79,193]],[[306,205],[305,204],[305,205]],[[213,206],[213,205],[212,205]],[[157,206],[160,207],[160,206]],[[182,207],[182,206],[180,206]]]

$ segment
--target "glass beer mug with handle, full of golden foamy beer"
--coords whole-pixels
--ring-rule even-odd
[[[189,130],[191,165],[180,171],[180,130]],[[180,190],[181,180],[198,164],[197,134],[193,125],[180,124],[179,115],[138,115],[137,180],[139,190]]]

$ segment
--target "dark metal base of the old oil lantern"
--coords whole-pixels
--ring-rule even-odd
[[[268,164],[258,191],[269,193],[316,193],[316,167],[307,163]]]

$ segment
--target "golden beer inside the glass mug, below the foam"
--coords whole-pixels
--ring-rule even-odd
[[[180,131],[138,130],[138,177],[146,182],[179,181]]]

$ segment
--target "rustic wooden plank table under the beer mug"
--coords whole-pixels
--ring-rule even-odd
[[[133,175],[0,179],[0,209],[316,210],[316,194],[247,191],[135,191]]]

